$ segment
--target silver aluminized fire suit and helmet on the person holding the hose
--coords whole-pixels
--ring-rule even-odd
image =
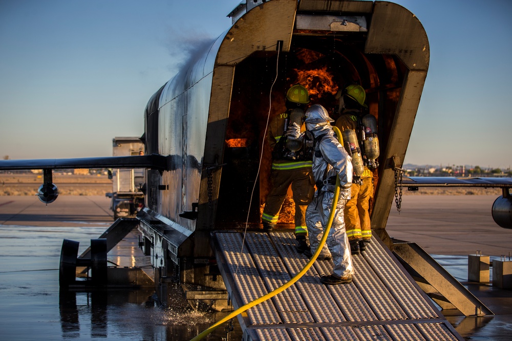
[[[333,275],[350,277],[354,273],[350,246],[345,231],[344,206],[350,199],[352,185],[351,157],[338,142],[327,110],[318,104],[306,111],[306,129],[314,136],[313,176],[317,190],[306,209],[306,225],[309,233],[311,253],[316,252],[323,232],[327,227],[334,198],[335,179],[339,178],[340,192],[331,230],[321,255],[331,254],[334,262]]]

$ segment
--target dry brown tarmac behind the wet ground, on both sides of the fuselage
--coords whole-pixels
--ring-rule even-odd
[[[491,214],[495,196],[404,195],[401,211],[393,204],[386,230],[392,238],[415,242],[431,255],[507,256],[512,230]],[[0,196],[0,225],[87,226],[113,222],[110,198],[59,196],[45,204],[34,196]]]

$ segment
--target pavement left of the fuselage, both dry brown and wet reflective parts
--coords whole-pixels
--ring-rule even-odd
[[[109,203],[100,196],[59,196],[45,206],[35,196],[0,196],[0,340],[188,340],[227,314],[196,311],[181,293],[175,306],[163,309],[153,289],[59,292],[62,240],[80,242],[81,254],[112,224]],[[137,244],[137,234],[130,234],[109,261],[146,265]],[[238,323],[234,328],[231,339],[241,339]],[[219,327],[205,339],[227,334]]]

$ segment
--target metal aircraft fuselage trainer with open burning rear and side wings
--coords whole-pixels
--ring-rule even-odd
[[[228,300],[211,234],[243,231],[246,222],[248,230],[261,230],[270,181],[270,162],[260,165],[260,158],[271,159],[264,143],[268,116],[286,111],[284,96],[293,84],[304,85],[310,103],[323,105],[333,119],[339,89],[354,83],[366,89],[369,138],[378,136],[379,147],[368,139],[375,167],[372,232],[393,247],[386,222],[397,187],[422,186],[421,179],[397,179],[430,61],[420,21],[393,3],[259,0],[229,16],[233,25],[148,101],[145,155],[0,161],[0,170],[45,169],[39,198],[47,203],[58,194],[52,169],[145,168],[145,202],[137,219],[156,283],[164,288],[174,277],[187,298],[217,308]],[[512,181],[494,181],[485,187],[504,192],[493,215],[512,228]],[[293,229],[286,218],[280,217],[278,228]]]

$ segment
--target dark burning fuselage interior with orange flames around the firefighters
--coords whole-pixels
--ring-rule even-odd
[[[323,105],[334,120],[338,117],[338,90],[351,83],[362,85],[367,92],[366,113],[378,122],[380,155],[386,154],[383,149],[407,67],[396,55],[364,53],[366,39],[367,32],[294,31],[289,52],[255,52],[237,64],[216,229],[245,227],[246,221],[250,228],[259,228],[270,186],[271,151],[265,128],[273,116],[286,111],[286,91],[293,84],[304,85],[309,90],[310,104]],[[374,171],[375,193],[385,162],[379,161],[379,165]],[[289,194],[281,209],[280,228],[293,228],[294,203]]]

